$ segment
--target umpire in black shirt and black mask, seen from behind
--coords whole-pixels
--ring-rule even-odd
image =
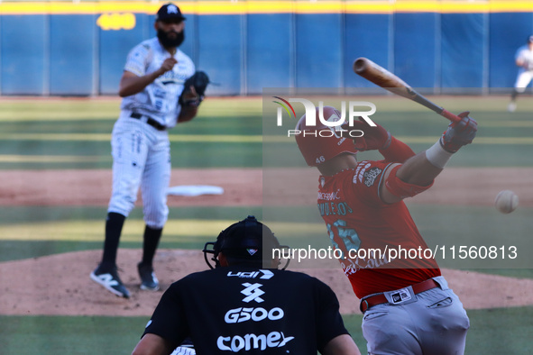
[[[133,355],[170,354],[186,338],[198,355],[360,354],[331,288],[278,269],[275,248],[283,247],[255,217],[230,225],[204,248],[211,269],[181,278],[163,294]]]

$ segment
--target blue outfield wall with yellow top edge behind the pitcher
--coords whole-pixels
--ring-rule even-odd
[[[235,11],[235,3],[200,3],[177,3],[187,17],[181,50],[219,83],[208,89],[214,96],[261,95],[262,87],[341,87],[345,93],[375,87],[354,75],[358,57],[429,93],[503,93],[516,77],[515,51],[533,33],[533,5],[515,9],[512,1],[500,2],[503,9],[455,1],[446,11],[436,1],[423,2],[426,10],[400,11],[387,7],[389,1],[363,8],[309,3],[303,10],[271,2],[273,9],[258,11],[250,11],[253,2]],[[160,6],[85,3],[58,11],[6,4],[0,4],[2,96],[116,95],[126,55],[155,35]]]

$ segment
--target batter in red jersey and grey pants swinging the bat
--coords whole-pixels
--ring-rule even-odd
[[[341,119],[334,107],[323,114],[329,122]],[[402,200],[431,187],[448,159],[473,141],[477,123],[468,114],[418,154],[380,125],[354,122],[343,132],[309,125],[304,115],[296,127],[299,150],[321,173],[318,209],[361,299],[369,354],[464,353],[469,320],[435,259],[387,250],[427,249]],[[353,140],[346,130],[363,136]],[[379,150],[384,159],[358,162],[355,153],[363,150]]]

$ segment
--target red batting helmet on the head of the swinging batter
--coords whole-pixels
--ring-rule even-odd
[[[317,117],[318,117],[317,108]],[[324,119],[335,122],[341,117],[335,107],[324,106]],[[323,162],[336,157],[342,153],[355,154],[354,141],[350,138],[342,137],[337,134],[334,127],[327,127],[317,119],[317,124],[308,126],[306,124],[306,115],[304,114],[296,125],[296,142],[299,151],[310,167],[317,167]]]

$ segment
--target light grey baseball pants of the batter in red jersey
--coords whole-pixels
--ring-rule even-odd
[[[369,355],[464,354],[470,327],[466,311],[445,278],[433,279],[440,287],[405,303],[374,305],[364,313],[363,336]]]

